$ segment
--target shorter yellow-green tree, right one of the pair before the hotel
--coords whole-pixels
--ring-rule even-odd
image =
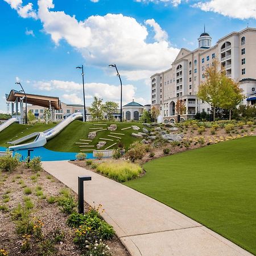
[[[220,108],[229,110],[229,120],[231,120],[231,112],[245,97],[238,83],[229,77],[222,76],[220,90]]]

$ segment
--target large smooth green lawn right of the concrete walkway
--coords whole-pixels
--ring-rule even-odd
[[[213,144],[144,164],[125,184],[256,254],[256,137]]]

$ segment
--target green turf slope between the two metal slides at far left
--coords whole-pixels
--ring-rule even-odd
[[[36,123],[35,125],[19,125],[18,123],[13,123],[0,132],[0,146],[9,147],[11,145],[7,144],[7,142],[10,140],[15,141],[36,131],[48,130],[55,125],[56,123],[48,123],[48,125],[46,123]]]

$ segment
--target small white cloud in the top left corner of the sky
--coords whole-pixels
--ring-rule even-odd
[[[36,19],[36,12],[33,9],[33,4],[28,3],[27,5],[22,5],[22,0],[3,0],[11,6],[12,9],[16,10],[17,13],[22,18],[34,18]]]

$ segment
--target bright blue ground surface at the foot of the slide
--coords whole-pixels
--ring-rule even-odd
[[[34,151],[30,153],[30,157],[34,158],[34,156],[40,156],[42,161],[60,161],[60,160],[75,160],[77,153],[75,152],[58,152],[58,151],[51,151],[45,147],[35,147],[33,148]],[[7,148],[0,147],[0,151],[6,151]],[[16,150],[14,154],[19,153],[22,155],[22,159],[24,160],[27,158],[27,149],[25,150]],[[93,158],[92,153],[86,153],[86,158]]]

